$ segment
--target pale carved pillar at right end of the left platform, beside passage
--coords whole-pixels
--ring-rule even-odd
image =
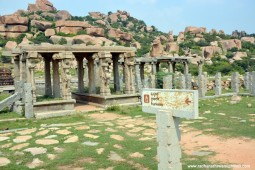
[[[64,100],[71,100],[71,75],[70,68],[71,63],[74,60],[74,55],[72,52],[63,52],[61,53],[61,80],[62,80],[62,97]],[[81,62],[82,63],[82,62]]]

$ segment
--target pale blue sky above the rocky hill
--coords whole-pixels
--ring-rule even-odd
[[[206,27],[255,33],[254,0],[50,0],[58,10],[67,10],[73,16],[89,12],[125,10],[131,16],[155,26],[163,32],[177,35],[186,26]],[[35,0],[0,0],[0,15],[27,9]]]

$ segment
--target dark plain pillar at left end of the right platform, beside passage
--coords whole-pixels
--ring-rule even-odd
[[[76,57],[77,61],[77,70],[78,70],[78,92],[84,93],[84,68],[83,68],[83,57]]]

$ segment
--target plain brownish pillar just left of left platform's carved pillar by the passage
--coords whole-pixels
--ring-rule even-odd
[[[59,76],[59,61],[62,59],[59,53],[52,56],[52,70],[53,70],[53,97],[60,98],[60,76]]]

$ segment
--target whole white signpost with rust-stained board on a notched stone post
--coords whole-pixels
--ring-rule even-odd
[[[143,89],[143,112],[156,114],[159,170],[181,170],[179,119],[198,118],[198,91]]]

